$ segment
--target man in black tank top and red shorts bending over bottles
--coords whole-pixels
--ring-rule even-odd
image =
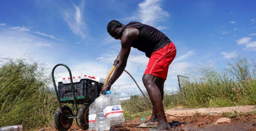
[[[107,32],[114,39],[121,40],[121,50],[114,61],[118,64],[112,77],[102,88],[102,91],[109,91],[112,84],[123,73],[131,47],[145,52],[149,57],[149,63],[142,77],[144,86],[149,94],[153,105],[152,115],[147,125],[158,125],[158,130],[171,130],[171,127],[164,114],[163,95],[164,81],[166,80],[168,68],[176,55],[175,45],[159,30],[140,22],[130,22],[123,25],[117,20],[112,20],[107,25]]]

